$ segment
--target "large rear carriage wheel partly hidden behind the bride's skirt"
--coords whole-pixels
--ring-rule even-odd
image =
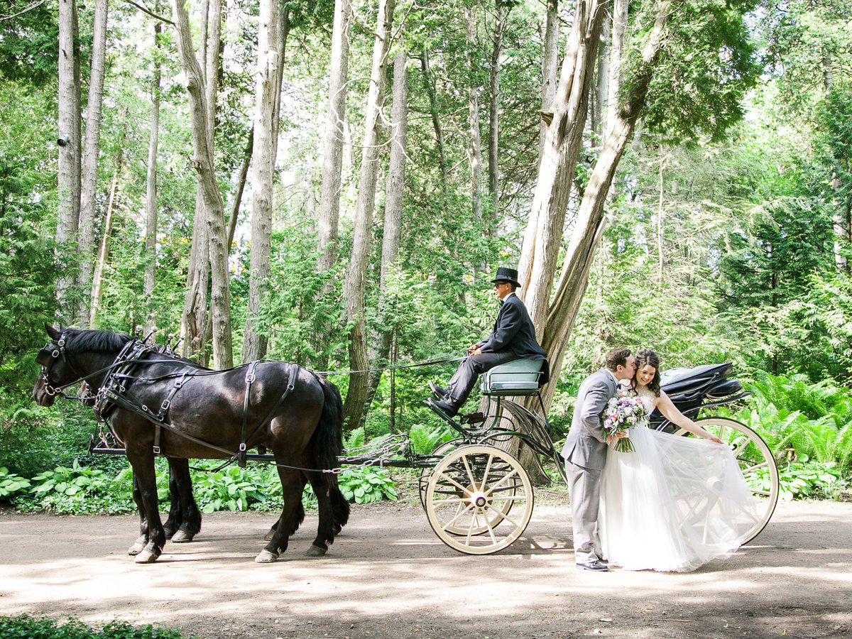
[[[746,535],[743,544],[747,544],[766,527],[778,503],[778,467],[772,451],[760,435],[734,419],[703,417],[696,419],[695,423],[731,447],[751,492],[757,498],[761,516]],[[688,435],[688,431],[679,429],[675,435]]]

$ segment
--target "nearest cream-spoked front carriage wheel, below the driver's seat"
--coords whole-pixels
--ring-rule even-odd
[[[533,485],[508,452],[463,446],[435,466],[425,502],[429,526],[442,542],[468,555],[490,555],[527,529],[533,516]],[[509,516],[513,507],[515,516]]]

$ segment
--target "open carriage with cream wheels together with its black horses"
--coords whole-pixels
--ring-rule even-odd
[[[528,447],[533,463],[553,462],[565,478],[538,394],[540,362],[515,360],[486,372],[481,378],[487,399],[482,412],[454,419],[433,406],[458,437],[430,455],[415,454],[404,438],[380,454],[346,452],[340,394],[301,366],[265,361],[209,371],[129,336],[47,328],[50,341],[37,356],[42,373],[33,397],[49,405],[81,380],[94,391],[95,412],[109,423],[109,431],[94,438],[92,450],[126,454],[133,466],[134,498],[141,515],[141,536],[130,551],[135,561],[156,560],[166,531],[175,541],[190,540],[198,532],[188,458],[276,464],[285,507],[269,543],[256,557],[259,562],[275,561],[286,549],[304,517],[301,495],[308,481],[320,509],[317,537],[308,554],[325,553],[348,519],[348,504],[337,487],[343,466],[421,469],[420,498],[429,525],[445,544],[474,555],[508,547],[533,515],[533,485],[515,454],[518,446]],[[684,414],[698,417],[702,410],[745,395],[740,384],[728,378],[730,372],[730,365],[670,371],[663,389]],[[769,447],[734,420],[697,421],[732,446],[747,479],[768,474],[769,490],[754,490],[763,516],[751,530],[751,539],[769,521],[778,498],[778,473]],[[661,419],[652,416],[652,422],[671,430]],[[157,455],[170,461],[172,509],[165,526],[159,519],[153,472]]]

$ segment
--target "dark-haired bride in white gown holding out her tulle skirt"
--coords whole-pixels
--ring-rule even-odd
[[[626,570],[686,573],[730,556],[757,522],[757,504],[728,446],[701,429],[659,388],[659,355],[636,354],[627,393],[696,438],[630,429],[634,452],[611,445],[601,478],[601,542]]]

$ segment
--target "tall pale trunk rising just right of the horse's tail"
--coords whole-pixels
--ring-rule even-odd
[[[378,120],[382,109],[385,69],[388,66],[391,27],[394,22],[395,0],[379,0],[376,40],[373,43],[370,90],[364,123],[361,171],[358,181],[358,199],[355,201],[354,227],[352,231],[352,256],[343,285],[346,297],[346,316],[352,326],[349,331],[349,389],[343,406],[343,417],[348,428],[358,428],[366,409],[366,391],[369,366],[366,343],[366,271],[370,256],[373,205],[376,199],[376,176],[378,173]]]

